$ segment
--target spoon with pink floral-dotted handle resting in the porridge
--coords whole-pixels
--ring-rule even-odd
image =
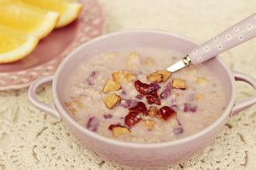
[[[182,60],[168,67],[167,70],[175,72],[191,64],[203,63],[254,37],[256,37],[256,13],[193,49]]]

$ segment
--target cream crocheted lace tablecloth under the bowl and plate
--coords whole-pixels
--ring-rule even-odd
[[[244,0],[99,0],[106,14],[106,32],[162,29],[204,42],[256,8]],[[221,58],[233,70],[256,77],[256,41],[246,42]],[[95,158],[74,141],[53,118],[29,103],[27,89],[0,92],[0,169],[130,169]],[[253,93],[237,83],[237,98]],[[51,102],[50,87],[40,93]],[[232,117],[222,133],[192,160],[169,169],[255,169],[256,107]]]

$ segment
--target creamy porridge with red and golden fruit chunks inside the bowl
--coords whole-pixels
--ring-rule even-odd
[[[123,49],[80,63],[63,93],[79,124],[119,141],[184,138],[212,124],[226,106],[220,80],[205,66],[164,70],[182,58],[168,49]]]

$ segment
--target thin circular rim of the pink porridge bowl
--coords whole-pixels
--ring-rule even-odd
[[[100,134],[96,134],[95,132],[89,131],[88,129],[84,128],[81,124],[78,124],[77,121],[74,121],[74,119],[71,117],[71,115],[67,113],[67,111],[64,109],[64,107],[62,107],[61,101],[59,100],[59,97],[57,97],[57,83],[59,80],[59,76],[61,74],[61,70],[63,70],[64,66],[66,66],[66,64],[70,62],[70,60],[73,58],[73,56],[76,55],[76,53],[78,53],[78,51],[85,48],[85,46],[88,46],[89,44],[99,42],[101,39],[105,39],[107,37],[119,36],[119,35],[126,34],[126,33],[145,33],[145,32],[152,33],[152,34],[161,34],[161,35],[165,35],[165,36],[173,36],[178,39],[183,39],[185,41],[192,42],[196,46],[199,46],[198,42],[195,42],[195,40],[189,39],[185,36],[180,36],[176,33],[164,32],[164,31],[159,31],[159,30],[150,30],[150,29],[133,29],[133,30],[128,30],[128,31],[113,32],[113,33],[106,34],[104,36],[99,36],[95,39],[85,42],[84,44],[81,44],[81,46],[78,46],[77,49],[74,49],[74,51],[71,52],[61,62],[61,65],[58,67],[57,72],[54,75],[53,87],[52,87],[53,96],[54,96],[54,104],[55,104],[58,114],[60,114],[60,116],[61,116],[62,121],[64,118],[65,124],[71,124],[74,126],[74,128],[76,128],[76,130],[81,131],[83,135],[88,135],[90,138],[94,138],[97,141],[101,141],[101,142],[107,143],[109,145],[122,146],[122,147],[126,147],[126,148],[147,148],[148,149],[148,148],[164,148],[164,147],[170,147],[170,146],[175,146],[175,145],[182,145],[184,143],[194,141],[197,138],[200,138],[200,137],[208,134],[210,131],[214,131],[218,126],[220,126],[222,124],[223,121],[225,121],[225,119],[227,117],[230,116],[230,111],[234,107],[234,103],[235,103],[234,76],[233,76],[233,73],[231,73],[230,69],[226,66],[226,64],[224,64],[223,61],[221,61],[218,57],[215,57],[214,59],[216,59],[217,62],[220,63],[220,66],[223,66],[223,68],[228,73],[228,77],[229,77],[230,83],[231,83],[231,96],[230,96],[230,101],[227,104],[226,109],[223,111],[223,114],[221,114],[221,116],[218,117],[216,119],[216,121],[213,122],[213,124],[210,124],[209,126],[204,128],[202,131],[199,131],[195,134],[189,135],[185,138],[177,139],[175,141],[165,141],[165,142],[160,142],[160,143],[135,143],[135,142],[128,142],[128,141],[118,141],[118,140],[115,140],[112,138],[104,137]]]

